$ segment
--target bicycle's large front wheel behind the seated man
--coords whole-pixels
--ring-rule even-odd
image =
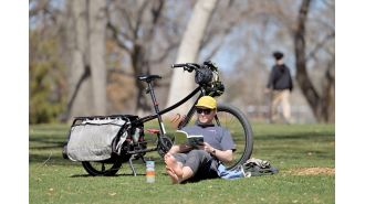
[[[244,114],[233,106],[219,104],[213,122],[217,126],[227,128],[236,144],[233,160],[223,162],[226,168],[228,170],[234,169],[250,159],[253,150],[253,136],[250,122]]]

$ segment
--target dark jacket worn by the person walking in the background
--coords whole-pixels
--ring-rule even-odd
[[[271,69],[268,88],[274,90],[293,89],[292,77],[286,65],[274,65]]]

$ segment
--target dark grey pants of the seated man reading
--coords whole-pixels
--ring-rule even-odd
[[[189,167],[192,170],[194,176],[189,181],[218,178],[218,161],[204,150],[175,153],[174,157],[182,163],[182,167]]]

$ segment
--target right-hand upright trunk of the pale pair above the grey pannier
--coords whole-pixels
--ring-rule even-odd
[[[106,2],[88,3],[90,63],[92,72],[93,115],[106,114],[105,31]]]

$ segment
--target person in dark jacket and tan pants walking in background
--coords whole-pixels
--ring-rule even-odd
[[[265,88],[267,94],[271,94],[270,122],[279,118],[278,105],[281,104],[283,117],[286,124],[291,122],[290,94],[293,89],[292,77],[288,66],[283,62],[284,54],[274,52],[275,65],[272,67],[269,82]]]

